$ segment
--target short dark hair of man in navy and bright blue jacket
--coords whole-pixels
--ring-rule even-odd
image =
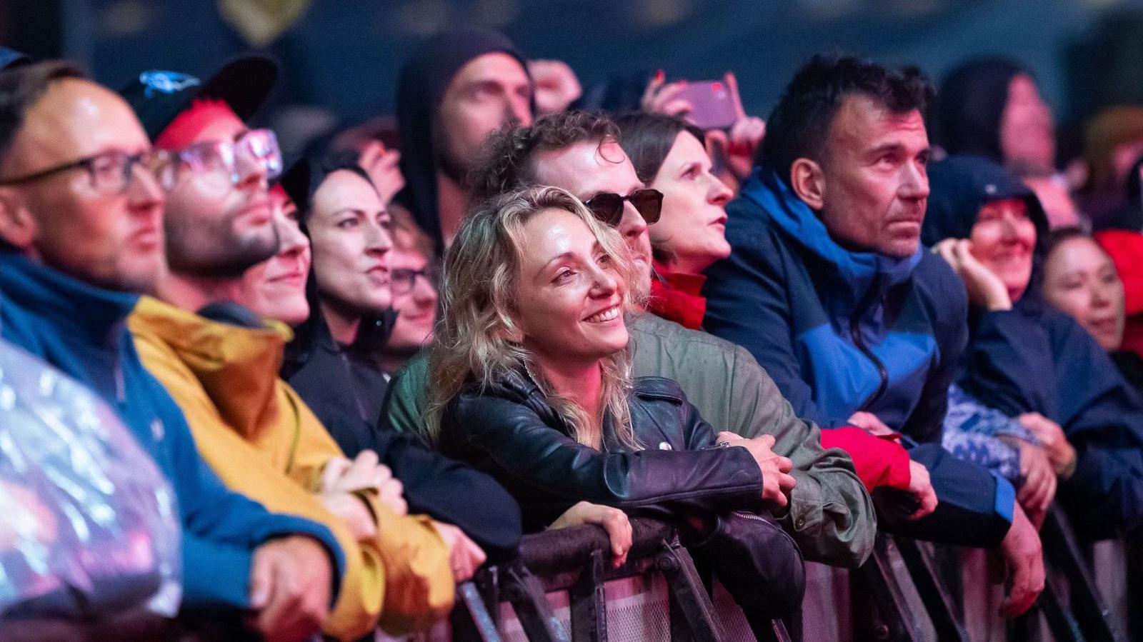
[[[866,96],[892,113],[925,111],[933,86],[917,67],[889,70],[853,56],[814,56],[794,73],[770,119],[757,164],[786,183],[798,159],[821,162],[833,117],[848,96]]]

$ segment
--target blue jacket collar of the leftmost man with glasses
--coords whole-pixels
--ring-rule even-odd
[[[0,251],[0,298],[98,345],[114,340],[139,299],[90,286],[10,251]]]

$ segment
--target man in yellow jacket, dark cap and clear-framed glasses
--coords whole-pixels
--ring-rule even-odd
[[[346,581],[325,633],[355,639],[427,627],[451,607],[449,547],[406,515],[400,482],[376,454],[347,459],[278,376],[288,332],[242,307],[242,276],[278,251],[269,180],[273,133],[249,129],[278,74],[262,56],[210,79],[147,71],[122,94],[169,154],[169,274],[128,326],[146,368],[184,409],[203,459],[231,488],[327,524],[346,552]]]

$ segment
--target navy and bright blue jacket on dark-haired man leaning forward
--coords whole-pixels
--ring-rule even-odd
[[[745,347],[800,417],[823,428],[858,410],[919,443],[940,504],[890,530],[968,546],[999,544],[1015,491],[941,448],[949,386],[967,340],[965,287],[938,257],[853,252],[776,174],[758,169],[727,206],[733,251],[703,288],[714,335]]]

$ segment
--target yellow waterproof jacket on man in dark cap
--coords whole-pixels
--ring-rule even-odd
[[[358,639],[378,613],[385,631],[411,632],[448,612],[449,551],[427,517],[397,515],[362,493],[377,537],[358,543],[318,498],[322,470],[342,451],[278,377],[287,328],[219,323],[149,297],[128,327],[144,366],[183,408],[199,452],[227,485],[338,536],[350,563],[326,633]]]

